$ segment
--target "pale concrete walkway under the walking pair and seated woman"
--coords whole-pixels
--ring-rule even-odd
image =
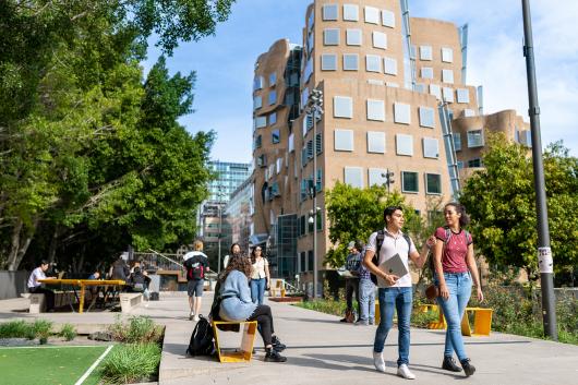
[[[203,314],[208,313],[213,296],[205,296]],[[205,358],[186,358],[184,352],[194,327],[188,318],[186,297],[164,294],[160,301],[140,306],[131,315],[152,316],[166,325],[159,383],[180,384],[404,384],[395,375],[397,330],[386,340],[384,356],[387,373],[373,368],[374,326],[354,326],[338,322],[337,316],[303,310],[289,304],[268,302],[275,317],[275,329],[288,345],[286,363],[264,362],[262,339],[257,336],[256,356],[248,364],[218,363]],[[25,308],[25,300],[0,301],[0,318],[35,315],[14,313]],[[120,313],[117,313],[120,314]],[[48,313],[41,317],[57,323],[99,325],[112,323],[115,313]],[[123,315],[125,316],[125,315]],[[2,321],[2,320],[0,320]],[[238,334],[227,333],[232,344]],[[478,371],[466,380],[462,374],[439,369],[444,349],[444,332],[412,329],[410,369],[418,376],[414,384],[442,384],[467,381],[468,384],[578,384],[578,347],[499,333],[490,337],[465,337],[466,350]]]

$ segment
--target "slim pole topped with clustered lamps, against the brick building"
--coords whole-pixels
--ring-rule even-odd
[[[313,298],[317,298],[317,115],[323,115],[323,92],[317,88],[311,91],[305,112],[313,116]]]

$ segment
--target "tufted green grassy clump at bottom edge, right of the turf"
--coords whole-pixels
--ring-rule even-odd
[[[127,384],[149,380],[157,373],[160,348],[157,344],[129,344],[116,347],[103,362],[103,380]]]

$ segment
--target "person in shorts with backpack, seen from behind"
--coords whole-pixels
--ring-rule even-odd
[[[208,268],[208,257],[203,253],[203,242],[194,241],[193,251],[183,255],[184,268],[186,269],[186,292],[189,294],[189,308],[191,314],[189,320],[197,322],[203,301],[203,289],[205,286],[205,273]]]

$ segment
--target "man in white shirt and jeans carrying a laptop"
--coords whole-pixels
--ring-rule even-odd
[[[378,285],[381,320],[373,342],[373,363],[377,371],[385,372],[386,366],[383,358],[383,349],[387,334],[394,324],[395,309],[397,311],[398,324],[397,375],[407,380],[413,380],[416,375],[408,368],[410,318],[413,300],[409,260],[411,258],[421,268],[428,258],[428,248],[435,242],[435,239],[433,237],[430,238],[423,245],[420,254],[416,250],[411,238],[401,232],[405,224],[404,209],[400,206],[387,207],[384,210],[383,217],[386,226],[383,230],[371,234],[365,248],[365,256],[363,257],[365,267],[385,281],[385,284],[380,282]],[[377,264],[373,262],[373,256],[376,253]],[[394,257],[396,254],[399,255],[408,272],[402,277],[388,274],[378,268],[383,262]]]

